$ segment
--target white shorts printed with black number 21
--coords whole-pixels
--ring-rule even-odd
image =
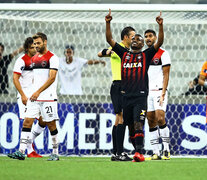
[[[59,120],[57,112],[57,101],[52,102],[40,102],[30,100],[27,102],[27,110],[25,117],[37,118],[42,116],[43,121],[51,122],[53,120]]]

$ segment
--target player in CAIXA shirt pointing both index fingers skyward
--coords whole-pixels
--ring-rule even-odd
[[[148,95],[148,68],[153,56],[163,43],[163,19],[156,17],[159,24],[158,41],[151,48],[141,51],[144,46],[144,39],[136,34],[132,38],[131,49],[129,51],[121,47],[112,39],[110,22],[112,20],[111,10],[105,17],[106,21],[106,40],[112,46],[113,51],[121,58],[122,73],[122,94],[123,94],[123,118],[124,123],[134,125],[134,139],[136,144],[135,162],[144,161],[142,149],[144,146],[143,125],[147,110]],[[132,135],[132,134],[131,134]]]

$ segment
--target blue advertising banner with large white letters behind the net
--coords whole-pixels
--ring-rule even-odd
[[[173,155],[207,155],[205,104],[169,104],[166,121],[170,129],[170,150]],[[111,131],[115,122],[112,104],[60,103],[59,153],[62,155],[110,154]],[[16,103],[0,103],[0,153],[18,150],[22,120]],[[37,152],[51,153],[52,145],[46,128],[36,140]],[[124,148],[133,150],[126,129]],[[148,124],[145,123],[145,150],[151,150]]]

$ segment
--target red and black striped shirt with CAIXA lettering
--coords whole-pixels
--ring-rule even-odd
[[[122,92],[124,96],[148,95],[148,69],[153,56],[154,46],[139,53],[132,53],[118,43],[113,51],[121,58]]]

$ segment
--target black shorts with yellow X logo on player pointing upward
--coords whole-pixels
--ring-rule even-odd
[[[130,125],[135,122],[145,122],[147,113],[147,97],[124,97],[123,96],[123,119],[124,124]]]

